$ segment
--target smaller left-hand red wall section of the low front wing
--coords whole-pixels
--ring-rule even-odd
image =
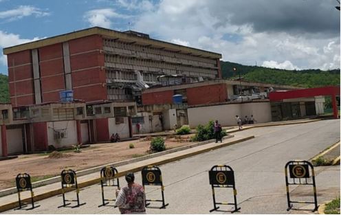
[[[172,104],[174,91],[160,91],[155,93],[142,93],[142,104]]]

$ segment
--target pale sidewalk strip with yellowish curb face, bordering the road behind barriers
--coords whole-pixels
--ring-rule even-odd
[[[118,177],[123,176],[127,172],[137,172],[142,170],[144,166],[148,165],[162,165],[164,163],[169,163],[177,161],[179,159],[184,159],[186,157],[191,157],[194,155],[201,154],[203,152],[208,152],[217,148],[229,146],[239,142],[243,142],[248,139],[252,139],[254,136],[245,137],[232,137],[229,139],[224,139],[223,143],[210,143],[201,146],[196,146],[194,148],[188,148],[186,150],[181,150],[179,152],[173,152],[167,155],[162,155],[159,157],[153,157],[151,159],[145,159],[143,161],[138,161],[135,163],[129,163],[124,166],[118,167]],[[84,188],[89,185],[94,185],[100,182],[100,172],[95,172],[91,174],[86,174],[82,177],[77,177],[79,188]],[[34,201],[39,201],[41,199],[47,199],[51,196],[56,196],[61,194],[61,183],[52,183],[50,185],[41,186],[39,188],[34,188]],[[28,201],[30,197],[30,192],[21,193],[21,199],[23,201]],[[3,196],[0,198],[0,212],[5,210],[10,210],[12,208],[18,207],[18,196],[17,194],[10,194],[8,196]]]

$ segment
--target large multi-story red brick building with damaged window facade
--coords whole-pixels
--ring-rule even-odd
[[[58,102],[73,90],[85,102],[139,100],[141,89],[221,78],[221,54],[102,27],[7,47],[12,106]]]

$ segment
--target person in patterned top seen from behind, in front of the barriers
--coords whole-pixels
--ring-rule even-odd
[[[146,194],[142,185],[134,182],[133,172],[126,174],[126,185],[116,190],[116,202],[121,214],[146,214]]]

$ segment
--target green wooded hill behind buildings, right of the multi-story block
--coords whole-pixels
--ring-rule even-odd
[[[270,84],[285,84],[296,87],[322,87],[340,85],[340,69],[322,71],[320,69],[285,70],[266,67],[245,66],[221,61],[223,78],[236,78],[239,71],[243,80]],[[236,68],[236,71],[233,68]]]

